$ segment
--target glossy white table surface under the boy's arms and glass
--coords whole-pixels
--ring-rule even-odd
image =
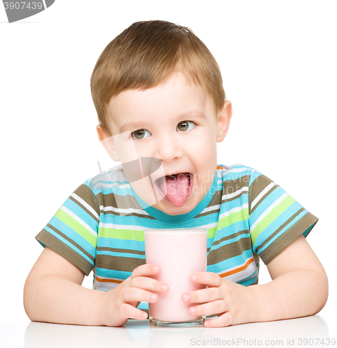
[[[150,328],[148,319],[129,320],[120,328],[3,322],[0,323],[0,347],[288,347],[293,343],[297,347],[327,348],[337,347],[337,344],[331,344],[331,338],[337,338],[337,330],[332,329],[332,323],[329,318],[320,315],[226,328],[189,329]],[[328,342],[330,345],[327,345]]]

